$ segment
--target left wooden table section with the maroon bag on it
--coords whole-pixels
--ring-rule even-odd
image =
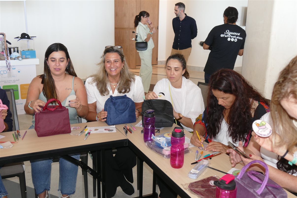
[[[71,126],[81,126],[81,130],[84,126],[107,126],[105,122],[89,122],[72,124]],[[21,130],[20,134],[23,134],[26,130]],[[14,132],[5,132],[1,135],[5,136],[0,141],[14,142],[12,137]],[[63,156],[73,153],[81,153],[87,151],[101,151],[96,159],[97,170],[100,171],[100,177],[102,179],[102,197],[105,197],[105,166],[104,155],[102,154],[105,149],[127,146],[128,140],[121,132],[116,130],[114,133],[97,133],[90,134],[86,140],[84,134],[81,136],[72,136],[69,134],[59,134],[48,137],[38,137],[34,129],[27,130],[26,136],[23,140],[14,143],[12,148],[0,149],[0,164],[9,164],[13,162],[29,161],[33,159],[43,159],[54,156]],[[99,168],[100,167],[100,168]],[[97,182],[97,196],[100,196],[100,181]]]

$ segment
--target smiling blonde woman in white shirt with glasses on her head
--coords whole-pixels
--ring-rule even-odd
[[[88,95],[88,121],[104,122],[107,111],[105,101],[111,96],[127,95],[135,102],[136,119],[143,103],[143,86],[141,78],[129,71],[125,56],[120,46],[106,46],[99,62],[98,72],[86,80]],[[136,156],[128,148],[117,148],[116,155],[112,150],[105,151],[106,197],[113,197],[118,186],[127,195],[134,194],[132,168],[136,165]],[[128,181],[130,182],[128,182]]]

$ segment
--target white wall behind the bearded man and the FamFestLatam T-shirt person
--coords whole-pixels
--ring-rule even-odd
[[[159,29],[159,57],[158,60],[162,60],[161,58],[166,58],[170,55],[173,39],[174,39],[174,33],[172,29],[172,19],[175,16],[174,14],[174,5],[179,1],[166,1],[167,4],[164,2],[164,0],[160,0],[159,4],[159,27],[161,28],[161,21],[162,25],[166,26],[166,31],[162,31]],[[198,35],[195,39],[192,40],[192,52],[189,57],[189,61],[187,65],[191,66],[200,66],[203,67],[206,64],[209,50],[203,50],[203,48],[199,45],[200,41],[204,41],[208,35],[208,33],[211,31],[211,29],[214,26],[218,26],[223,24],[223,13],[224,10],[228,7],[236,7],[238,10],[238,21],[237,25],[241,26],[245,29],[243,26],[245,20],[244,15],[242,14],[244,12],[244,9],[247,7],[247,0],[244,1],[195,1],[195,0],[183,0],[182,1],[185,6],[185,13],[194,18],[197,23],[198,28]],[[164,15],[164,12],[166,14]],[[162,16],[162,17],[161,17]],[[166,23],[164,23],[166,21]],[[166,43],[165,43],[165,50],[160,50],[160,35],[166,35]],[[164,37],[162,37],[164,38]],[[162,43],[163,44],[163,43]],[[164,45],[164,44],[163,44]],[[163,49],[163,46],[162,46]],[[238,56],[235,66],[241,66],[242,63],[242,57]]]

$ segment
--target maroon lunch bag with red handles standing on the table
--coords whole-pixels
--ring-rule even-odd
[[[52,102],[58,105],[48,105]],[[49,99],[39,113],[35,113],[35,127],[38,137],[71,132],[68,109],[57,99]]]

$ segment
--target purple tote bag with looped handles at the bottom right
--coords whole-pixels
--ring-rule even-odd
[[[265,168],[265,175],[250,170],[245,172],[251,164],[259,163]],[[245,165],[235,178],[237,193],[236,197],[287,197],[287,193],[281,186],[268,178],[268,167],[263,161],[254,160]]]

